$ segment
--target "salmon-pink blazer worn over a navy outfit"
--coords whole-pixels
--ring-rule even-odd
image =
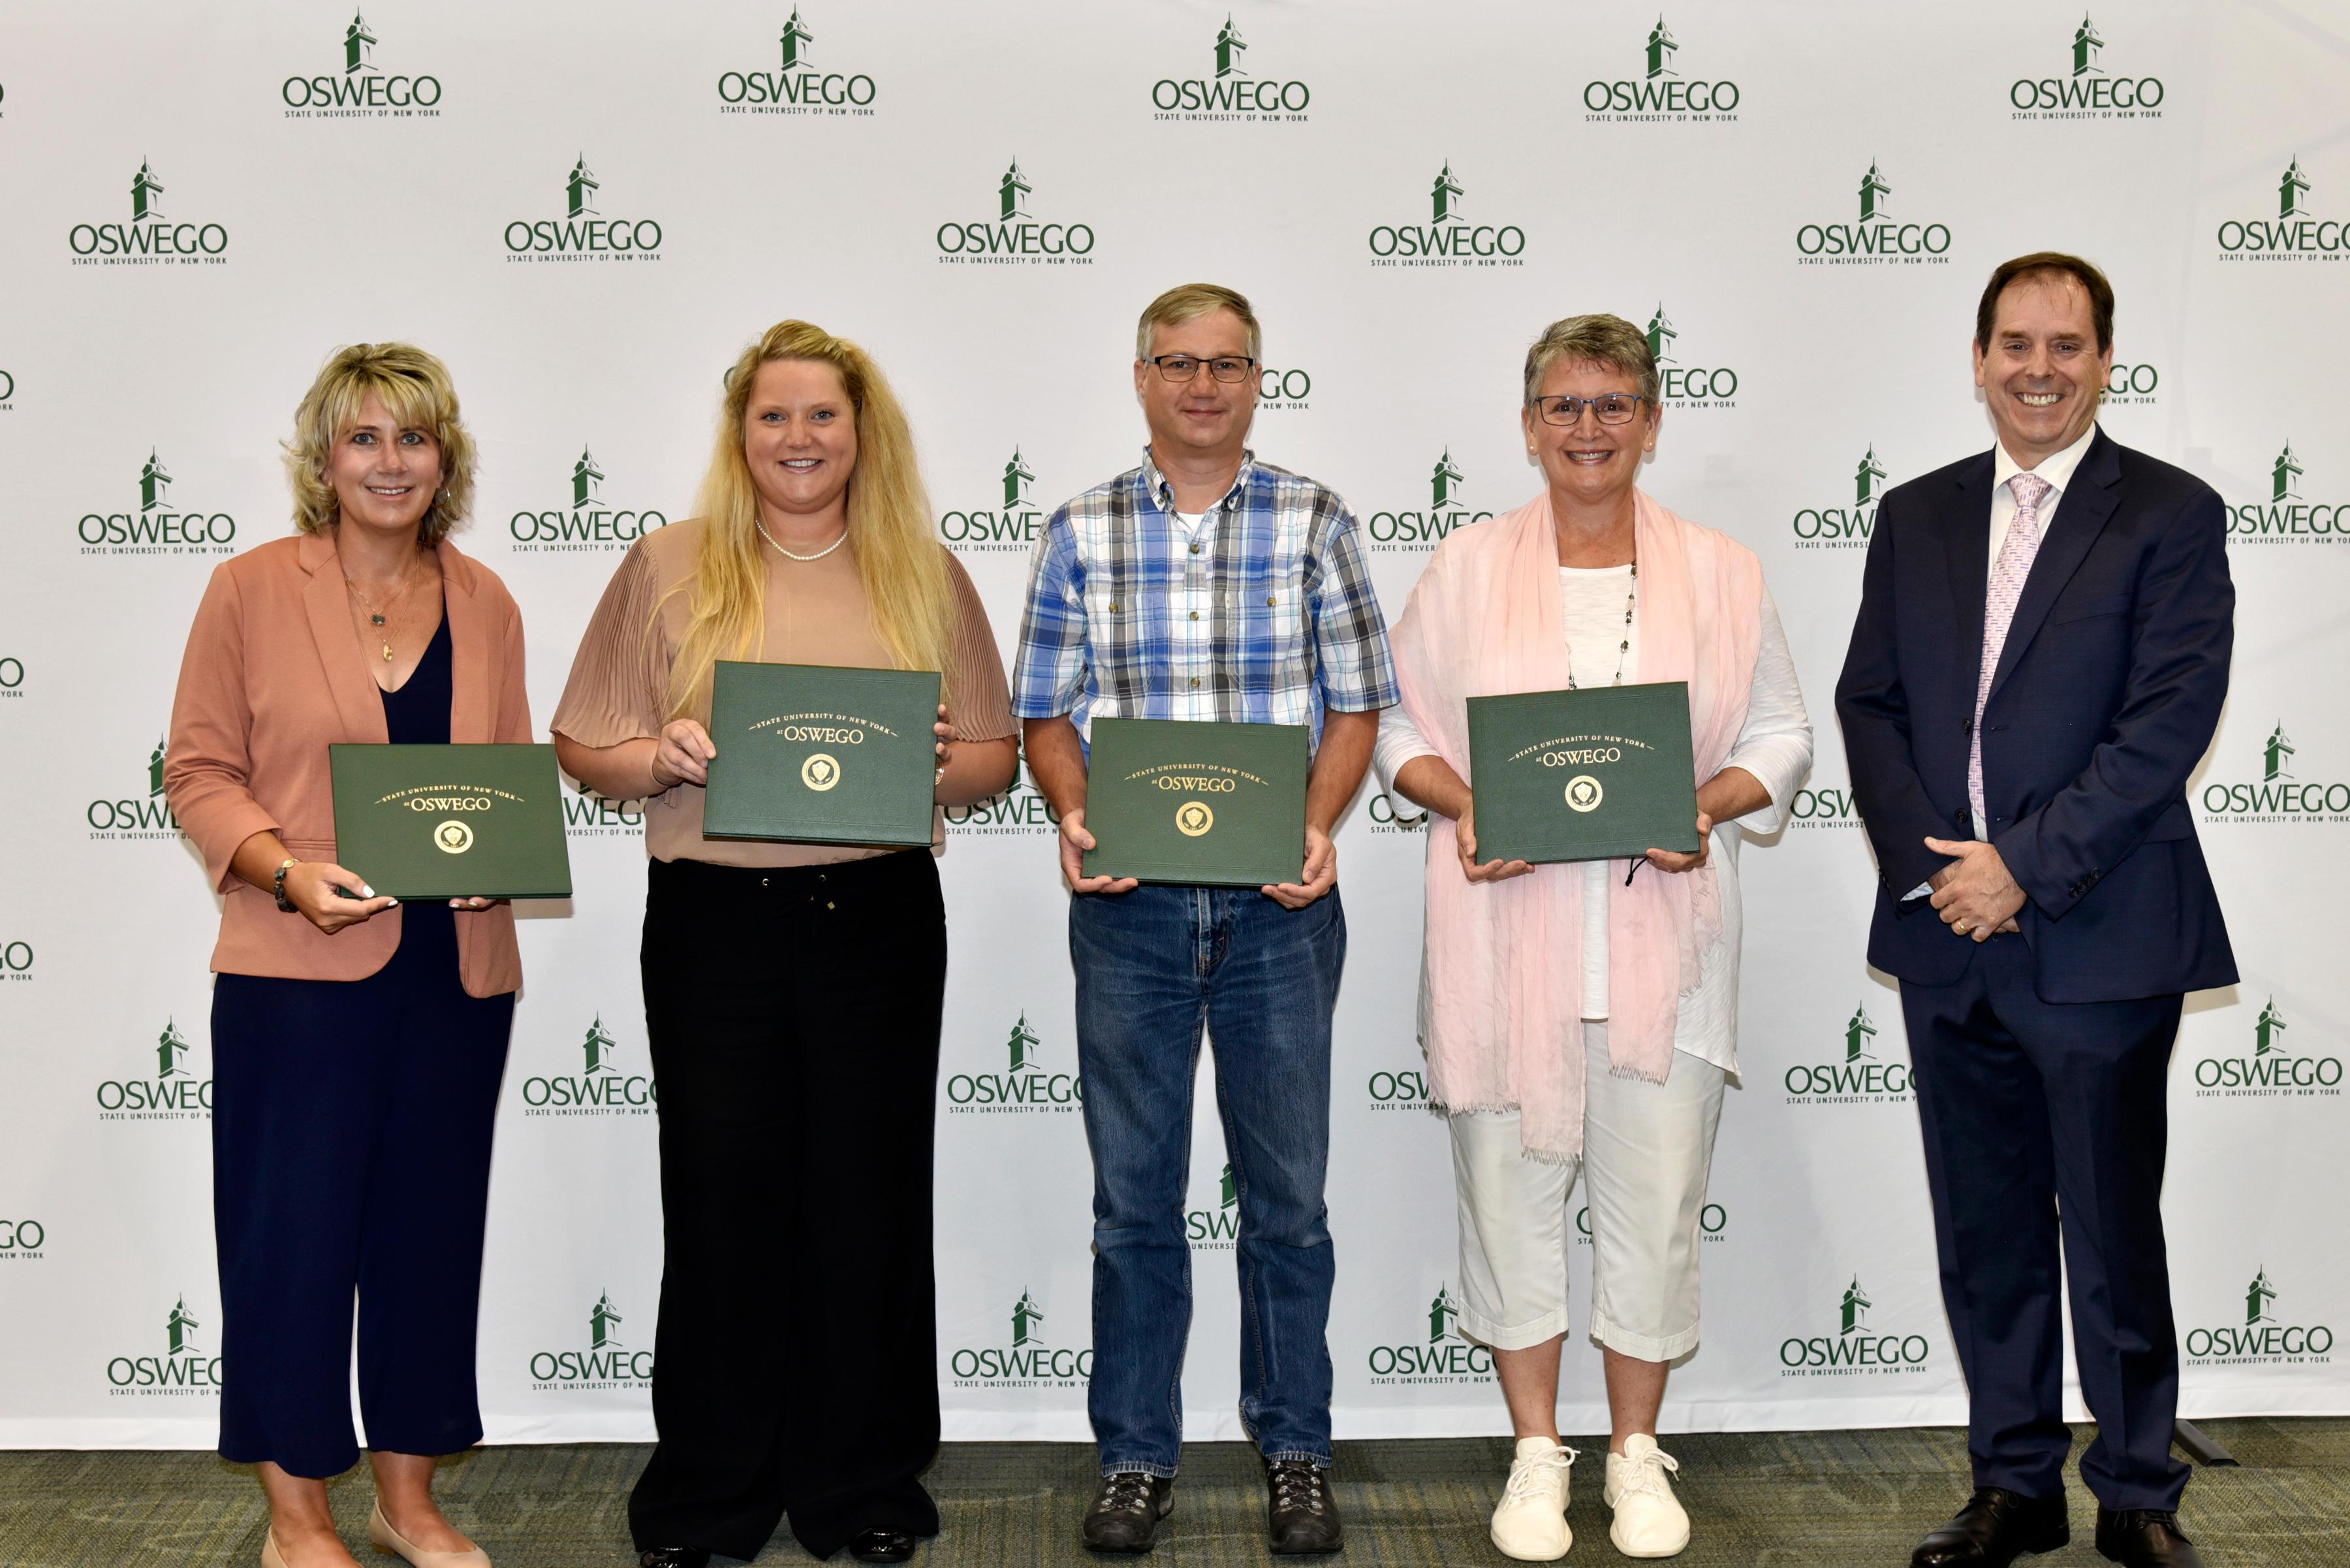
[[[439,567],[456,682],[449,738],[526,743],[522,611],[489,567],[446,541]],[[331,860],[327,745],[388,738],[334,541],[296,534],[221,562],[188,632],[162,766],[164,799],[226,893],[216,973],[364,980],[390,961],[397,907],[327,936],[228,870],[256,832],[277,832],[289,856]],[[350,870],[367,875],[364,865]],[[512,905],[458,912],[456,947],[468,994],[522,985]]]

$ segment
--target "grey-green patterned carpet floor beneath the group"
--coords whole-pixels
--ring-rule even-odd
[[[2242,1469],[2200,1469],[2181,1523],[2211,1568],[2350,1563],[2350,1420],[2225,1420],[2204,1432]],[[2087,1432],[2080,1432],[2087,1441]],[[1619,1563],[1598,1495],[1605,1439],[1579,1441],[1567,1563]],[[1685,1568],[1901,1568],[1967,1493],[1955,1429],[1676,1436],[1680,1495],[1697,1535]],[[498,1568],[625,1568],[632,1446],[482,1448],[442,1467],[449,1516]],[[1509,1446],[1499,1439],[1337,1446],[1337,1497],[1356,1568],[1506,1563],[1485,1540]],[[949,1443],[926,1476],[945,1530],[916,1563],[1095,1563],[1076,1544],[1093,1488],[1079,1443]],[[331,1488],[343,1537],[367,1552],[367,1472]],[[2103,1563],[2089,1544],[2094,1502],[2073,1486],[2073,1544],[2033,1568]],[[1152,1568],[1269,1563],[1260,1469],[1241,1443],[1184,1448],[1175,1516]],[[202,1453],[0,1453],[5,1568],[251,1568],[266,1509],[251,1472]],[[811,1561],[790,1535],[759,1563]],[[846,1554],[839,1561],[848,1561]],[[1283,1559],[1297,1561],[1297,1559]],[[721,1559],[724,1563],[724,1559]]]

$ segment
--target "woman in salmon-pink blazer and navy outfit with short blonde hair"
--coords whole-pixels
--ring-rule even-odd
[[[350,1321],[369,1537],[486,1568],[432,1502],[482,1439],[475,1319],[489,1138],[522,961],[486,898],[400,905],[334,863],[336,741],[529,741],[522,614],[449,543],[472,440],[446,367],[338,350],[287,444],[291,538],[223,562],[188,632],[164,792],[223,893],[214,1048],[221,1455],[258,1465],[261,1561],[343,1568]]]

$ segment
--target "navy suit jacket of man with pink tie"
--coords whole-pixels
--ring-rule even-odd
[[[1868,961],[1950,985],[1969,938],[1904,893],[1969,839],[1967,748],[1990,567],[1993,454],[1878,503],[1835,712],[1878,851]],[[2195,475],[2099,430],[2049,522],[1983,705],[1983,816],[2023,886],[2044,1001],[2230,985],[2188,773],[2228,696],[2228,512]],[[2007,938],[1995,938],[2007,940]]]

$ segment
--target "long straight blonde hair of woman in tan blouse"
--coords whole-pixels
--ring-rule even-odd
[[[881,646],[900,670],[940,670],[947,712],[959,712],[947,646],[961,604],[947,569],[947,545],[933,534],[931,498],[914,461],[914,430],[872,357],[808,322],[776,322],[743,350],[726,376],[717,444],[703,475],[696,515],[703,538],[693,574],[670,595],[686,595],[686,635],[670,663],[672,719],[710,717],[710,675],[721,658],[757,658],[766,639],[766,543],[759,538],[759,491],[743,456],[743,421],[761,364],[808,360],[841,376],[858,416],[858,465],[848,477],[848,550]],[[660,616],[660,604],[653,607]],[[646,625],[651,635],[651,625]]]

